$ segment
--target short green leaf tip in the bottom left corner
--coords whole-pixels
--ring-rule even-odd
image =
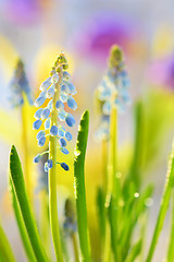
[[[0,261],[2,262],[15,262],[15,258],[8,240],[8,237],[0,225]]]

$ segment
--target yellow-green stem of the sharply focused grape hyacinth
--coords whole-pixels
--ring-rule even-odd
[[[62,72],[59,74],[59,82],[55,85],[52,115],[51,115],[51,127],[58,126],[58,110],[55,103],[59,96],[60,83],[62,82]],[[49,136],[49,159],[52,159],[53,166],[49,169],[49,212],[50,212],[50,226],[52,233],[52,240],[55,251],[57,261],[63,262],[63,253],[61,248],[60,226],[58,218],[58,201],[57,201],[57,138]]]

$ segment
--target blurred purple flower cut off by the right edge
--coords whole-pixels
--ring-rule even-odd
[[[152,62],[148,69],[148,78],[153,84],[174,90],[174,53]]]

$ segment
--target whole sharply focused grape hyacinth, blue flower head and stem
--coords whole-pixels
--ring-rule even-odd
[[[71,75],[66,71],[69,68],[67,60],[63,52],[58,57],[54,67],[52,68],[49,78],[40,85],[40,94],[35,100],[35,106],[38,107],[35,112],[35,122],[33,128],[39,130],[37,134],[38,145],[44,146],[49,138],[48,152],[49,154],[45,163],[45,171],[48,172],[49,180],[49,210],[50,210],[50,226],[52,233],[52,240],[55,251],[57,261],[63,262],[63,254],[61,248],[61,237],[58,218],[58,203],[57,203],[57,165],[60,165],[65,171],[69,170],[66,163],[60,163],[57,159],[58,148],[63,154],[69,154],[66,150],[66,141],[72,140],[72,135],[62,126],[65,122],[67,127],[75,126],[75,119],[72,114],[66,112],[64,104],[75,110],[77,104],[73,96],[76,94],[75,86],[71,83]],[[39,162],[40,156],[36,156],[34,162]]]

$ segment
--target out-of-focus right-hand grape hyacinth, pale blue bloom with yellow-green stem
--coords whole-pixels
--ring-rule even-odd
[[[114,217],[115,210],[119,206],[121,195],[119,194],[120,181],[116,178],[117,172],[117,110],[124,110],[129,104],[128,95],[129,80],[125,70],[124,57],[120,47],[113,46],[109,59],[108,71],[99,85],[96,96],[100,109],[100,128],[97,136],[102,142],[102,175],[103,175],[103,193],[105,198],[105,209],[109,203],[114,202],[112,212]],[[119,210],[119,209],[117,209]],[[119,216],[119,215],[117,215]],[[109,225],[109,221],[105,219]],[[115,230],[119,230],[119,222],[115,221]],[[112,234],[112,233],[111,233]],[[112,238],[113,236],[111,236]],[[103,257],[109,261],[108,239],[110,238],[109,226],[105,227],[105,242]],[[120,258],[120,257],[119,257]],[[119,259],[116,258],[116,261]]]

